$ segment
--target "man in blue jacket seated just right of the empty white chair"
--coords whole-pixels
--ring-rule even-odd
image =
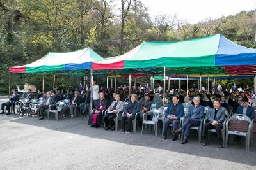
[[[172,124],[173,131],[178,129],[178,125],[180,123],[180,118],[183,117],[184,114],[184,106],[179,103],[179,97],[173,96],[172,103],[168,104],[168,108],[165,112],[166,119],[164,120],[163,125],[163,139],[167,138],[167,130],[170,124]],[[174,135],[173,141],[177,139],[177,135]]]

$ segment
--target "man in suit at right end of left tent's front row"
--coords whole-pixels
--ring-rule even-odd
[[[74,110],[76,109],[76,104],[78,104],[78,106],[79,106],[81,104],[81,102],[83,101],[82,97],[79,94],[80,94],[80,92],[78,90],[76,90],[75,96],[73,96],[70,101],[70,105],[67,105],[63,108],[63,110],[62,110],[63,118],[65,118],[65,116],[68,114],[68,112],[72,118],[74,117]]]

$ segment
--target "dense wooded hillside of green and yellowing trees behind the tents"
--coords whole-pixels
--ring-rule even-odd
[[[189,24],[175,15],[152,18],[138,0],[0,0],[0,23],[2,94],[8,92],[9,66],[28,64],[49,51],[70,52],[90,46],[102,57],[112,57],[143,41],[180,41],[219,33],[256,48],[254,11]],[[56,85],[76,86],[80,80],[83,78],[56,76]],[[42,87],[41,75],[12,73],[12,88],[23,87],[25,81]],[[100,78],[99,84],[104,81]],[[117,83],[125,81],[118,78]],[[252,79],[220,81],[227,86],[232,81],[253,83]],[[46,76],[45,82],[45,89],[51,89],[52,76]]]

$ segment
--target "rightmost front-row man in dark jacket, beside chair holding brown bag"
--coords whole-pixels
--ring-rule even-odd
[[[206,145],[206,133],[208,132],[208,129],[215,129],[217,132],[217,137],[220,142],[220,148],[223,148],[223,142],[222,142],[222,134],[221,129],[223,129],[223,122],[225,120],[225,110],[223,108],[220,108],[220,101],[215,100],[213,102],[214,108],[211,108],[208,113],[208,118],[206,120],[207,123],[204,124],[203,127],[203,139],[202,139],[202,145]]]

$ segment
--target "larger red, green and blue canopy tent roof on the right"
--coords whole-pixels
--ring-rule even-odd
[[[94,62],[94,70],[171,68],[173,73],[201,74],[216,69],[223,74],[255,73],[256,50],[228,40],[221,34],[178,42],[145,41],[130,52]],[[232,66],[232,67],[230,67]],[[208,70],[208,73],[214,71]]]

